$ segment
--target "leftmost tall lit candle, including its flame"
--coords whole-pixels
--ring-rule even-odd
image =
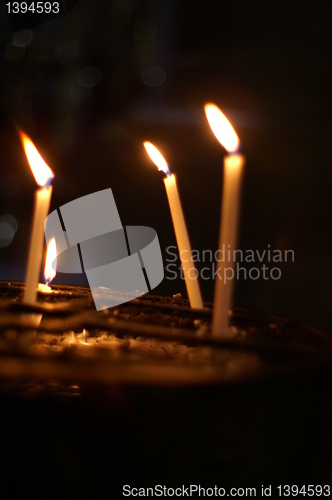
[[[36,301],[37,297],[37,285],[43,258],[44,221],[47,217],[50,206],[52,195],[52,186],[50,184],[54,178],[54,174],[38,153],[31,139],[29,139],[29,137],[21,131],[20,137],[32,173],[37,184],[40,186],[40,188],[35,192],[34,215],[26,274],[26,287],[23,296],[24,302],[33,303]]]

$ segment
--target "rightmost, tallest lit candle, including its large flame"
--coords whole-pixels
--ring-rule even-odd
[[[214,104],[206,104],[205,114],[212,132],[229,153],[224,158],[224,180],[219,232],[217,278],[214,291],[212,333],[225,336],[228,327],[228,311],[231,305],[234,278],[233,251],[235,250],[240,206],[240,188],[245,158],[238,154],[240,141],[233,127]],[[226,262],[230,255],[231,261]]]

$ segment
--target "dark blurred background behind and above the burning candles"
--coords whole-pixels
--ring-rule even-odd
[[[55,172],[51,210],[111,187],[122,223],[156,229],[166,259],[172,221],[142,147],[154,142],[177,175],[192,247],[215,252],[224,151],[203,111],[213,101],[247,157],[239,248],[295,252],[264,262],[280,280],[240,279],[234,303],[332,327],[330,1],[80,0],[24,32],[0,8],[0,217],[17,221],[10,244],[0,234],[1,279],[25,277],[36,189],[13,121]],[[154,293],[186,296],[167,277]],[[205,300],[213,285],[201,281]]]

